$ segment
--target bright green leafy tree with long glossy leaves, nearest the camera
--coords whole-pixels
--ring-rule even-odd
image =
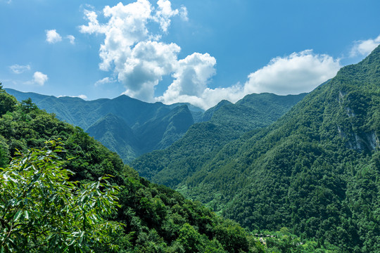
[[[18,153],[0,168],[0,252],[93,252],[116,249],[111,234],[120,223],[106,218],[118,207],[118,187],[103,176],[96,183],[70,181],[54,141]],[[52,151],[53,150],[53,151]]]

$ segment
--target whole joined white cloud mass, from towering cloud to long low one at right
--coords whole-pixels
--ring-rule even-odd
[[[173,17],[187,20],[185,7],[173,9],[169,0],[158,0],[154,6],[148,0],[137,0],[127,5],[106,6],[103,16],[107,22],[100,23],[95,11],[86,10],[84,18],[88,23],[80,26],[82,33],[105,37],[99,50],[99,68],[114,72],[118,82],[125,85],[124,94],[149,102],[188,102],[207,109],[222,99],[234,103],[249,93],[302,93],[334,77],[341,67],[338,59],[306,50],[272,59],[249,74],[243,84],[210,89],[208,84],[216,73],[213,56],[192,53],[178,59],[181,48],[160,41]],[[154,25],[160,32],[151,31]],[[172,84],[163,96],[155,98],[155,87],[166,75],[172,76]],[[106,77],[95,86],[111,80]]]

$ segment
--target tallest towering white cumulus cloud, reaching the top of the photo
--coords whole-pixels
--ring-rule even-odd
[[[168,0],[158,0],[156,6],[148,0],[137,0],[106,6],[103,15],[108,22],[101,24],[94,11],[86,10],[88,24],[80,26],[82,33],[105,36],[99,51],[99,68],[113,70],[128,96],[153,101],[154,87],[164,75],[175,72],[181,48],[160,41],[161,34],[153,34],[148,26],[157,24],[162,32],[167,32],[172,17],[186,19],[186,8],[173,9]]]

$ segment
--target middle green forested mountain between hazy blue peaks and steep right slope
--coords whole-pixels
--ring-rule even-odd
[[[251,94],[235,104],[222,100],[205,111],[204,122],[192,125],[179,141],[165,150],[142,155],[131,165],[146,179],[178,188],[223,145],[247,131],[272,124],[305,95]]]

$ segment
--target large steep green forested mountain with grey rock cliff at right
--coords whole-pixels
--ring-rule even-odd
[[[250,230],[286,227],[340,252],[379,252],[379,134],[380,46],[274,124],[165,180]],[[187,161],[165,161],[160,171],[191,171]]]

